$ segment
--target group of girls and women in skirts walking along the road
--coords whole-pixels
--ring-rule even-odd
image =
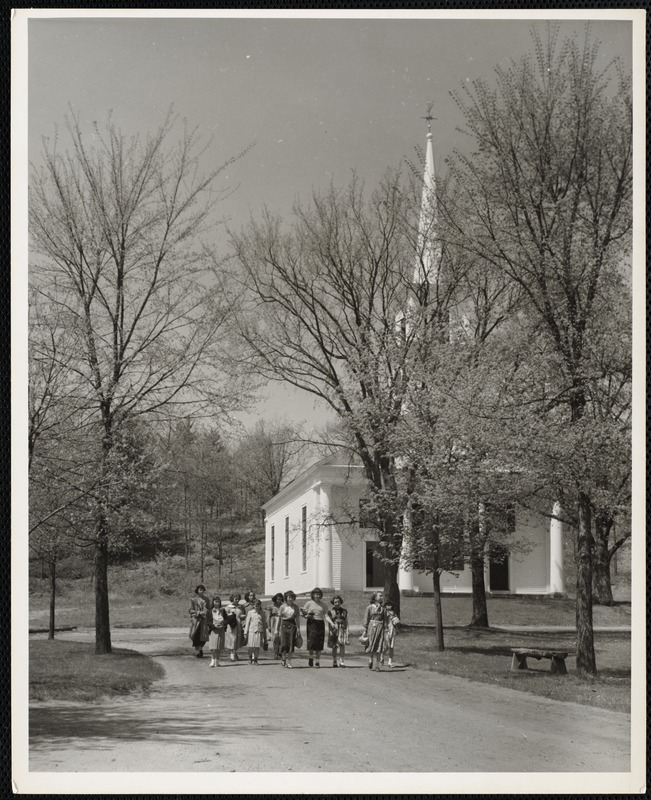
[[[283,667],[292,668],[295,648],[303,646],[300,619],[306,619],[308,666],[319,667],[324,649],[327,626],[327,646],[332,650],[332,666],[345,667],[346,646],[349,644],[348,611],[341,595],[331,600],[328,608],[322,600],[323,592],[315,588],[303,608],[296,605],[296,595],[291,590],[272,598],[265,611],[255,592],[247,591],[244,600],[237,593],[231,594],[227,605],[220,597],[210,600],[206,587],[199,584],[190,602],[190,639],[197,658],[203,657],[203,648],[208,644],[210,666],[219,666],[220,654],[230,651],[231,661],[239,661],[238,650],[248,647],[249,663],[257,665],[260,649],[267,650],[273,643],[274,658],[280,659]],[[366,609],[364,631],[360,642],[369,655],[369,669],[375,664],[380,669],[388,657],[389,668],[393,667],[394,643],[400,624],[393,605],[384,602],[382,592],[376,592]]]

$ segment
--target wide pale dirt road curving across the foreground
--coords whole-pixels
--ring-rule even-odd
[[[328,657],[310,669],[301,652],[287,670],[244,652],[210,669],[185,629],[114,630],[113,643],[156,658],[165,678],[147,697],[33,704],[30,772],[630,769],[628,714],[400,666],[378,674],[359,645],[345,669]]]

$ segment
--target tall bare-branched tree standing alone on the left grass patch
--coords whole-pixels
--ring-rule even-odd
[[[111,455],[135,416],[228,406],[210,383],[232,309],[209,278],[202,234],[220,195],[206,174],[196,131],[170,114],[148,136],[127,138],[109,116],[87,136],[77,118],[44,142],[30,186],[32,280],[75,342],[69,368],[85,387],[100,434],[95,503],[95,647],[111,651],[108,552]]]

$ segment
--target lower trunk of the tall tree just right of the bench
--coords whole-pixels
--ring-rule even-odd
[[[592,531],[590,498],[579,492],[579,526],[576,547],[576,671],[597,673],[592,627]]]

